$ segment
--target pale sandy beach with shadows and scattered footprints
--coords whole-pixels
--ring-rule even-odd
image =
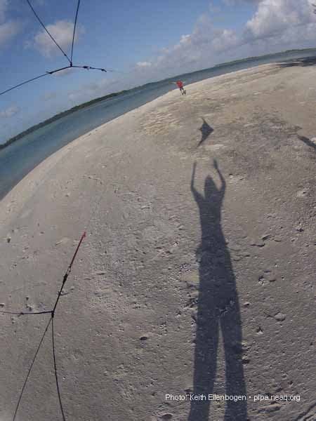
[[[224,420],[198,393],[246,395],[225,420],[314,420],[315,63],[186,88],[63,147],[0,201],[0,309],[51,309],[86,231],[54,317],[67,420]],[[1,421],[48,319],[1,315]],[[59,419],[48,329],[16,421]]]

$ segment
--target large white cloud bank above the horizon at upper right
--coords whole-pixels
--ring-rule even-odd
[[[316,15],[313,0],[225,0],[226,4],[256,4],[256,13],[244,23],[244,29],[219,29],[210,15],[202,15],[191,34],[177,44],[163,48],[150,65],[135,67],[147,79],[162,79],[211,67],[219,62],[249,55],[260,55],[288,48],[315,46]],[[147,62],[144,62],[147,63]]]

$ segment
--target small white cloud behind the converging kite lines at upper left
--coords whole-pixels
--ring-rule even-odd
[[[70,48],[72,45],[74,24],[67,20],[58,20],[52,25],[47,25],[47,30],[60,47],[67,53],[67,48]],[[74,37],[75,43],[78,41],[81,34],[84,34],[84,28],[82,26],[78,26]],[[37,50],[46,58],[50,58],[59,52],[58,47],[55,46],[51,37],[48,36],[44,29],[36,34],[34,36],[34,40],[31,43],[27,43],[27,46],[34,46],[34,48],[37,48]]]

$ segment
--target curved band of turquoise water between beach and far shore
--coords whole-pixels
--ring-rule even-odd
[[[171,80],[179,78],[185,80],[185,83],[188,84],[269,62],[292,60],[314,55],[316,56],[316,49],[305,53],[301,51],[265,55],[261,58],[211,67],[210,69],[183,74],[172,79],[152,83],[149,86],[140,87],[124,95],[98,102],[95,105],[91,105],[91,107],[80,109],[62,117],[62,119],[41,127],[0,150],[0,199],[10,192],[29,171],[32,171],[41,161],[67,145],[67,143],[72,142],[72,140],[88,133],[88,131],[101,124],[175,89],[176,86],[171,83]]]

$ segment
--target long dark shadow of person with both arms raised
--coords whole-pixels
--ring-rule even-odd
[[[225,394],[246,397],[242,366],[242,324],[235,275],[220,227],[225,179],[215,160],[214,168],[220,177],[220,188],[217,188],[213,179],[208,176],[205,180],[204,196],[195,189],[196,163],[191,180],[191,191],[199,208],[202,229],[201,243],[197,248],[199,298],[193,394],[204,394],[206,400],[191,400],[188,421],[209,420],[211,400],[208,399],[208,395],[213,394],[216,377],[219,328],[225,348]],[[246,414],[246,400],[226,401],[225,421],[246,421]]]

